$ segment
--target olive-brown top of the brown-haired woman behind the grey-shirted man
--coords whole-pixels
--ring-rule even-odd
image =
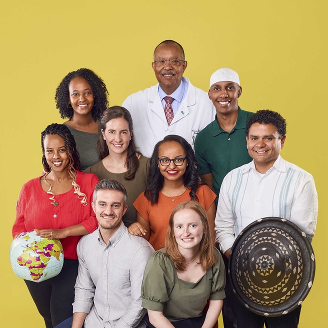
[[[122,221],[125,226],[128,227],[136,221],[136,210],[133,206],[134,200],[137,196],[146,188],[146,175],[147,175],[147,163],[148,157],[141,155],[139,157],[139,167],[136,170],[133,180],[125,180],[123,173],[109,172],[102,163],[102,160],[86,168],[83,172],[95,174],[99,180],[102,179],[114,179],[122,183],[127,191],[127,210],[122,217]]]

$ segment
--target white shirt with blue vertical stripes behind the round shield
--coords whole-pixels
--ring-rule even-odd
[[[277,216],[295,223],[312,240],[317,218],[317,193],[311,174],[280,156],[261,174],[254,161],[223,179],[215,217],[215,240],[224,253],[251,222]]]

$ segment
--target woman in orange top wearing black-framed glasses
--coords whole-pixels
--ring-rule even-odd
[[[199,182],[199,165],[190,144],[170,134],[156,143],[150,158],[146,189],[133,205],[136,222],[128,231],[143,236],[155,250],[164,247],[168,218],[176,204],[198,201],[206,210],[214,242],[215,193]]]

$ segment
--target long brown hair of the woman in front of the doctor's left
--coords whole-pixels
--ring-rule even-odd
[[[132,117],[129,111],[121,106],[111,106],[107,108],[101,115],[100,117],[100,127],[102,131],[104,132],[106,130],[106,123],[110,121],[113,118],[120,118],[122,117],[125,119],[128,123],[128,129],[130,133],[132,133],[133,130],[133,123],[132,123]],[[108,146],[106,144],[106,140],[103,139],[102,134],[100,134],[99,139],[97,141],[97,150],[99,153],[99,158],[103,159],[106,156],[109,155],[109,150]],[[135,145],[134,145],[134,139],[133,139],[133,134],[131,135],[131,140],[127,146],[127,157],[126,157],[126,167],[127,171],[124,175],[125,180],[133,180],[136,170],[139,167],[139,160],[135,153],[138,153],[141,155],[140,152],[135,150]]]

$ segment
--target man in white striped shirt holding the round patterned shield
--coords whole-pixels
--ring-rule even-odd
[[[246,141],[253,160],[223,179],[215,217],[215,240],[228,258],[236,236],[266,216],[286,218],[311,241],[317,218],[317,193],[311,174],[280,156],[286,122],[277,112],[259,110],[246,122]],[[297,327],[300,305],[288,314],[263,317],[235,302],[238,328]]]

